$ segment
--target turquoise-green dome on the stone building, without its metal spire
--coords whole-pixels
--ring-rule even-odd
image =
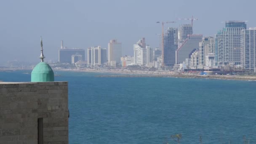
[[[45,62],[38,63],[31,73],[31,82],[54,81],[53,69]]]

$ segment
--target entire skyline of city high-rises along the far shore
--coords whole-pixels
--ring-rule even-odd
[[[207,37],[193,34],[192,24],[169,27],[162,40],[162,49],[156,48],[153,51],[142,37],[133,44],[133,56],[124,57],[122,43],[110,40],[108,49],[101,46],[88,48],[88,65],[122,65],[123,68],[138,65],[149,68],[169,67],[174,70],[232,65],[256,71],[256,28],[247,29],[245,21],[226,21],[225,27],[215,36]],[[59,61],[72,64],[84,61],[84,52],[83,49],[67,49],[61,41]]]

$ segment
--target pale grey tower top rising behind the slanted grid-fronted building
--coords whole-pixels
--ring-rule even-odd
[[[188,35],[193,34],[193,27],[191,24],[183,24],[181,27],[179,27],[178,32],[178,40],[179,43],[182,43],[184,40],[187,39]]]

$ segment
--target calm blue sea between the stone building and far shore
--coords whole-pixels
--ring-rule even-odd
[[[0,72],[30,81],[31,71]],[[69,81],[70,144],[256,143],[256,82],[154,77],[95,77],[60,72]]]

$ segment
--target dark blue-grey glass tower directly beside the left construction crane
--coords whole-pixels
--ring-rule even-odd
[[[168,28],[164,37],[164,49],[162,51],[162,66],[172,67],[175,64],[175,51],[178,48],[178,29]]]

